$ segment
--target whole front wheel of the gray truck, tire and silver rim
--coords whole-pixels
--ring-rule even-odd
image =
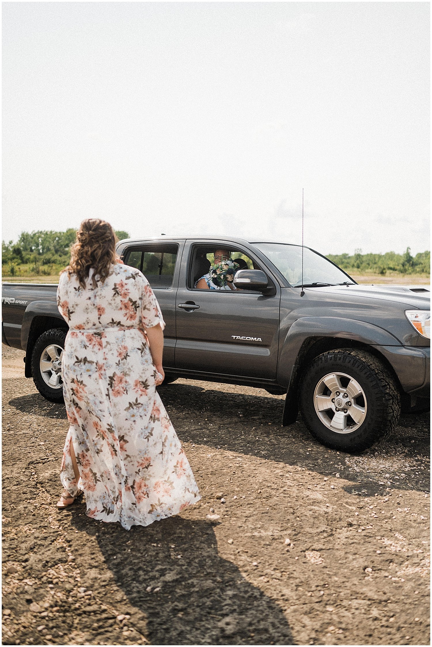
[[[400,416],[400,393],[380,360],[357,349],[315,357],[302,375],[299,405],[312,435],[332,449],[361,452],[387,437]]]

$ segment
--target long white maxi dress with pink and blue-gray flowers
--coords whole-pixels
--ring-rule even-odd
[[[155,389],[144,330],[165,322],[152,288],[128,265],[113,265],[96,288],[92,272],[85,289],[64,272],[57,291],[69,324],[62,360],[69,432],[60,478],[73,496],[84,490],[87,516],[129,530],[177,514],[200,496]]]

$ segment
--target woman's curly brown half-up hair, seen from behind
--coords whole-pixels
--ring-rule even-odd
[[[69,276],[75,274],[84,289],[85,280],[89,277],[90,269],[93,268],[91,279],[93,287],[97,287],[98,281],[104,283],[109,276],[111,265],[119,261],[115,253],[115,245],[118,241],[113,228],[106,221],[100,218],[83,220],[76,232],[76,241],[71,247],[71,261],[63,271]]]

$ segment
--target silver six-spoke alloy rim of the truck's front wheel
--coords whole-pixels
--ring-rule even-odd
[[[324,375],[315,388],[313,405],[321,422],[332,432],[352,433],[365,421],[365,393],[346,373]]]

